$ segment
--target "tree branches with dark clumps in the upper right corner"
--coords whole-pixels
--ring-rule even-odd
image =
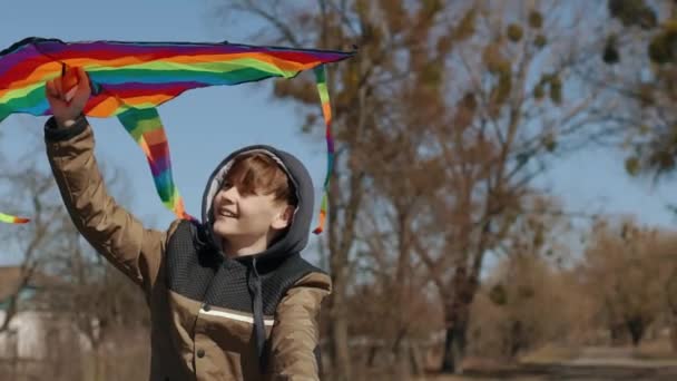
[[[677,101],[677,6],[669,0],[608,0],[595,65],[580,76],[602,88],[617,107],[599,109],[617,131],[629,175],[671,175],[675,170]]]

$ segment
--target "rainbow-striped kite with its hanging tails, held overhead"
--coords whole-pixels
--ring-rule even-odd
[[[179,218],[193,218],[186,213],[174,183],[169,145],[156,107],[195,88],[233,86],[272,77],[288,79],[314,69],[327,145],[327,173],[320,222],[314,231],[320,234],[326,218],[334,160],[324,65],[353,55],[228,42],[63,42],[32,37],[0,51],[0,121],[11,114],[50,115],[46,82],[59,76],[65,80],[75,68],[82,68],[92,90],[84,114],[117,117],[144,150],[163,204]],[[0,214],[0,222],[26,223],[28,219]]]

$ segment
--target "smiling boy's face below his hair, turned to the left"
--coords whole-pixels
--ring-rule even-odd
[[[213,211],[214,233],[232,248],[253,246],[253,252],[264,251],[293,214],[293,207],[273,194],[243,194],[228,183],[214,197]]]

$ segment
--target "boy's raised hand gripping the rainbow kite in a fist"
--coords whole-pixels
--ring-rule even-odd
[[[68,69],[61,77],[47,81],[46,96],[57,125],[61,127],[72,125],[82,114],[91,96],[91,87],[85,69],[79,67]]]

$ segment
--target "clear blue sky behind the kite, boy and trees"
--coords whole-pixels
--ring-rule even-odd
[[[251,20],[235,26],[218,22],[214,1],[116,0],[12,1],[0,14],[0,48],[29,37],[63,40],[247,41],[256,27]],[[312,74],[306,74],[312,75]],[[316,187],[325,169],[321,126],[315,136],[302,135],[298,109],[274,100],[272,81],[192,91],[160,107],[173,154],[174,175],[189,213],[199,215],[205,182],[213,167],[244,145],[269,144],[297,155],[311,170]],[[331,91],[331,89],[330,89]],[[26,146],[27,129],[40,130],[45,119],[11,116],[2,123],[2,149],[26,152],[46,163],[43,147]],[[165,227],[173,214],[160,204],[140,149],[116,119],[91,119],[97,155],[122,168],[131,180],[129,207],[143,221]],[[654,189],[647,182],[628,178],[624,156],[588,150],[562,159],[539,184],[560,196],[568,208],[580,212],[636,214],[647,224],[669,226],[675,221],[665,205],[677,202],[674,182]],[[12,228],[9,225],[0,228]],[[317,240],[316,237],[312,238]],[[0,260],[2,262],[2,260]]]

